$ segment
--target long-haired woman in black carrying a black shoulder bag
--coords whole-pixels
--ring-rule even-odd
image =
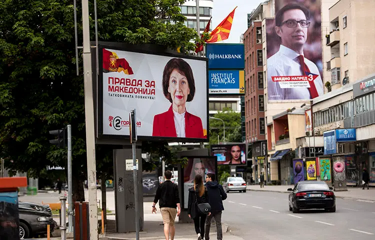
[[[189,198],[187,203],[187,214],[194,220],[195,233],[198,240],[204,238],[204,223],[207,214],[198,211],[198,204],[208,203],[207,188],[203,185],[202,175],[197,174],[194,177],[194,186],[189,188]],[[208,215],[211,213],[209,212]]]

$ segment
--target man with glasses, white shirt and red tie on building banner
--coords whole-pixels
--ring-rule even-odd
[[[312,99],[324,93],[319,69],[303,55],[310,25],[308,19],[308,9],[296,3],[286,4],[275,15],[275,31],[281,44],[279,50],[267,59],[268,100]],[[307,76],[309,87],[290,86],[286,82],[280,84],[273,81],[272,76]]]

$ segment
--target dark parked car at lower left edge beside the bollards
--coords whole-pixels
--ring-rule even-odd
[[[47,225],[52,232],[57,225],[52,218],[51,208],[32,202],[18,202],[19,238],[28,238],[37,234],[47,233]]]

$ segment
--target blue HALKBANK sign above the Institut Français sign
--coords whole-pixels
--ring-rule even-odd
[[[241,43],[207,43],[208,69],[244,69],[245,48]]]

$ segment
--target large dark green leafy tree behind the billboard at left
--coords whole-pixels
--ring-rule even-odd
[[[183,2],[97,0],[99,40],[193,50],[194,41],[201,40],[194,29],[184,25],[185,17],[178,7]],[[77,4],[78,42],[82,42],[80,7]],[[75,72],[73,10],[72,0],[0,3],[0,158],[10,171],[35,177],[47,165],[65,166],[66,148],[50,145],[48,130],[71,124],[75,201],[84,200],[86,150],[83,76]],[[93,12],[90,1],[91,16]],[[92,18],[90,34],[94,39]],[[149,147],[172,159],[165,143],[156,145],[157,149],[152,143]],[[107,167],[112,148],[96,148],[101,173],[111,173]]]

